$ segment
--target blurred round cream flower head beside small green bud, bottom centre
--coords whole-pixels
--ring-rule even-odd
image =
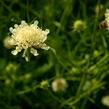
[[[68,84],[64,78],[58,78],[52,82],[52,89],[54,92],[65,91],[67,87]]]

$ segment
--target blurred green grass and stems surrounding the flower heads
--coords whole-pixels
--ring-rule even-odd
[[[0,0],[0,109],[108,109],[101,99],[109,94],[109,31],[98,28],[97,4],[109,8],[108,0]],[[73,31],[78,19],[87,23],[80,32]],[[55,51],[39,50],[30,62],[13,56],[3,40],[21,20],[50,29],[46,43]],[[68,88],[56,93],[59,77]]]

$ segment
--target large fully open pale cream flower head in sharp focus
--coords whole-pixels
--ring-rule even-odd
[[[12,45],[16,46],[16,49],[12,51],[13,55],[17,55],[23,49],[29,48],[30,52],[37,56],[37,48],[45,50],[49,49],[44,42],[47,39],[49,30],[42,30],[38,27],[38,21],[33,24],[27,24],[25,21],[21,21],[20,25],[15,24],[14,28],[10,27]]]

